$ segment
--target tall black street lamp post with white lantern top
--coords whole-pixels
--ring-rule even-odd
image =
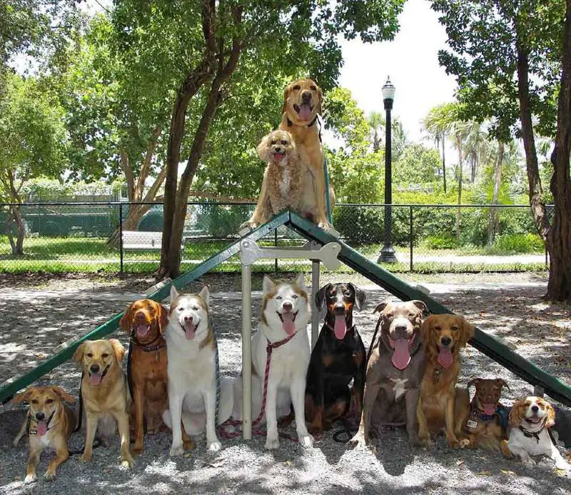
[[[381,89],[383,92],[383,103],[385,104],[385,244],[380,250],[377,263],[396,263],[397,256],[393,244],[390,242],[390,234],[393,229],[393,211],[391,204],[393,203],[393,170],[391,156],[391,129],[390,129],[390,111],[393,109],[393,100],[395,99],[395,86],[387,77],[387,82]]]

